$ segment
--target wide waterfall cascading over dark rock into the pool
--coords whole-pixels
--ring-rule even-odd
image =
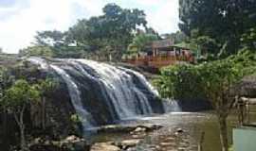
[[[84,130],[163,112],[157,92],[144,76],[130,69],[86,59],[28,61],[63,79]]]

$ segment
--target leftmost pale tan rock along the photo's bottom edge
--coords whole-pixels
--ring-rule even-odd
[[[95,143],[91,151],[120,151],[120,148],[110,143]]]

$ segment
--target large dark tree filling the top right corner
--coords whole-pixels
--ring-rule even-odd
[[[227,55],[236,53],[241,46],[240,38],[255,26],[254,0],[179,0],[179,27],[191,36],[197,29],[198,36],[208,36],[221,45],[227,44]]]

